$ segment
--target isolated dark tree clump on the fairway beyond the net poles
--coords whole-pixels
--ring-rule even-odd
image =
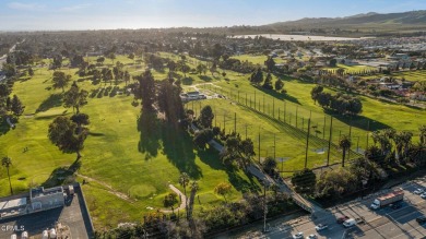
[[[342,115],[358,115],[363,110],[363,104],[358,97],[344,95],[342,93],[332,95],[323,92],[321,85],[315,86],[310,92],[310,95],[313,101],[318,101],[322,108],[332,109]]]

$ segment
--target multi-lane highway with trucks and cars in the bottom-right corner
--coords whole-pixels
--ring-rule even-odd
[[[251,230],[252,235],[242,231],[235,237],[250,238],[256,235],[256,238],[292,238],[294,234],[301,231],[305,237],[316,234],[318,238],[426,238],[426,224],[419,225],[415,220],[416,217],[426,215],[426,200],[413,193],[417,188],[426,189],[426,178],[406,182],[401,188],[405,195],[403,206],[399,210],[384,207],[371,211],[368,206],[377,195],[370,195],[368,199],[355,200],[323,211],[317,218],[304,216],[296,220],[275,220],[270,223],[270,232]],[[353,218],[364,217],[366,223],[346,229],[335,223],[336,217],[342,214]],[[328,224],[329,229],[317,232],[315,226],[318,224]]]

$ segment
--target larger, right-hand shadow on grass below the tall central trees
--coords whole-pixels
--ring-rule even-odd
[[[201,168],[196,164],[192,138],[187,131],[163,123],[163,153],[180,172],[187,172],[192,179],[202,177]]]

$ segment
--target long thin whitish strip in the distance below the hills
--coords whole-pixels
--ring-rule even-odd
[[[255,38],[262,36],[271,39],[280,39],[284,41],[301,40],[301,41],[332,41],[332,40],[362,40],[371,37],[350,38],[350,37],[334,37],[334,36],[309,36],[309,35],[280,35],[280,34],[259,34],[259,35],[236,35],[237,38]]]

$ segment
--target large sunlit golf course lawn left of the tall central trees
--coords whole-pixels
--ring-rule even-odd
[[[78,80],[74,71],[71,69],[69,73]],[[50,95],[61,94],[61,89],[49,89],[51,74],[52,71],[46,69],[37,70],[34,77],[16,82],[13,88],[13,94],[26,106],[26,116],[21,117],[15,130],[0,136],[0,154],[12,158],[11,179],[15,192],[28,190],[29,183],[43,184],[55,169],[69,167],[76,157],[62,154],[47,138],[48,124],[55,117],[72,113],[72,109],[63,108],[57,98],[47,100]],[[78,84],[87,91],[104,87],[104,83],[92,85],[91,81]],[[119,86],[123,87],[123,83]],[[44,111],[37,111],[46,100],[49,104],[45,104]],[[120,222],[141,222],[143,214],[151,212],[150,207],[161,208],[169,183],[182,190],[178,183],[181,171],[199,182],[200,203],[204,207],[223,202],[223,198],[214,193],[220,182],[232,183],[229,200],[240,199],[245,190],[259,188],[258,181],[245,172],[225,168],[216,152],[196,151],[189,135],[165,141],[167,132],[164,131],[157,139],[157,154],[147,157],[139,151],[140,140],[145,139],[137,127],[140,106],[133,107],[132,100],[132,96],[126,95],[94,97],[81,108],[91,117],[91,134],[82,151],[79,174],[99,181],[83,187],[96,229],[116,227]],[[28,147],[28,152],[24,153],[24,147]],[[4,169],[0,183],[8,186]],[[129,195],[130,201],[120,199],[115,191]],[[0,195],[8,194],[9,188],[1,187]]]

